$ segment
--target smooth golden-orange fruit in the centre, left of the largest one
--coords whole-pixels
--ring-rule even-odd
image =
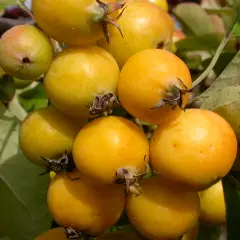
[[[100,117],[88,123],[77,135],[73,159],[83,176],[111,184],[119,168],[135,174],[146,171],[149,144],[140,128],[117,116]]]

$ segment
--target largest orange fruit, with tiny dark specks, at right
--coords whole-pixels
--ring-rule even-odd
[[[155,171],[203,190],[225,176],[237,153],[229,123],[204,109],[187,109],[175,122],[159,126],[150,142]]]

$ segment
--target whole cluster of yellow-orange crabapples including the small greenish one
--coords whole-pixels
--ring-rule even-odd
[[[32,10],[36,26],[3,34],[0,66],[43,78],[49,99],[19,137],[23,154],[54,173],[47,203],[59,227],[36,240],[187,240],[199,221],[224,223],[221,178],[236,136],[218,114],[185,109],[192,79],[171,52],[166,9],[147,0],[33,0]],[[144,124],[154,126],[150,138]],[[105,233],[123,212],[135,231]]]

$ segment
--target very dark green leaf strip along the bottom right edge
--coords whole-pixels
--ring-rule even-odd
[[[227,239],[238,240],[240,236],[240,187],[232,177],[222,179],[227,214]]]

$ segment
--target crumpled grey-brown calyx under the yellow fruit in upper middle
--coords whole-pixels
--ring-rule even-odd
[[[111,114],[114,103],[119,103],[114,93],[106,93],[97,95],[89,108],[90,115]]]

